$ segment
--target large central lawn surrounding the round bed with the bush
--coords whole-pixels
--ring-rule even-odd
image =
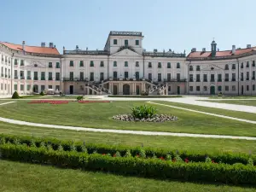
[[[137,131],[170,131],[256,136],[256,126],[249,123],[155,105],[154,107],[158,109],[159,113],[174,114],[179,119],[177,121],[164,123],[125,122],[112,119],[113,115],[131,113],[131,107],[145,103],[146,102],[109,102],[81,104],[78,102],[69,102],[68,104],[51,105],[48,103],[28,104],[26,101],[18,101],[0,106],[0,116],[52,125],[73,125]]]

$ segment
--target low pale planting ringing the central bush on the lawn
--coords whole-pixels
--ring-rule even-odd
[[[165,121],[174,121],[178,120],[176,116],[170,116],[167,114],[155,114],[152,118],[143,118],[143,119],[136,119],[133,117],[132,114],[118,114],[113,116],[115,120],[123,120],[123,121],[140,121],[140,122],[165,122]]]

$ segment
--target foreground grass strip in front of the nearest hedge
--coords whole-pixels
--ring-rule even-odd
[[[1,192],[82,191],[255,191],[223,184],[201,184],[124,177],[102,172],[82,172],[0,160]]]

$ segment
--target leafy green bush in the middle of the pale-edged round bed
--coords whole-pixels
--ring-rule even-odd
[[[134,119],[148,119],[153,118],[156,114],[156,108],[153,108],[152,106],[138,106],[131,108],[131,114]]]

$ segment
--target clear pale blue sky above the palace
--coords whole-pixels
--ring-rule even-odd
[[[103,49],[110,31],[143,32],[147,50],[256,45],[255,0],[3,0],[0,41]]]

